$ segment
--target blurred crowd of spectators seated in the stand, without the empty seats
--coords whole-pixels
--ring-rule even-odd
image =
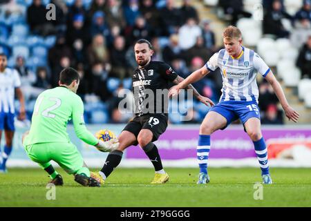
[[[55,20],[46,19],[47,3],[55,5]],[[12,26],[15,23],[8,25],[5,21],[17,12],[19,17],[24,17],[17,24],[28,28],[26,38],[35,38],[32,41],[37,43],[34,44],[40,44],[41,39],[54,39],[53,44],[46,46],[46,57],[41,63],[35,63],[36,59],[41,61],[40,57],[31,57],[35,46],[28,45],[31,53],[16,55],[14,46],[0,41],[0,48],[11,58],[10,65],[22,77],[26,99],[31,101],[42,90],[57,86],[60,71],[72,66],[82,79],[78,93],[86,104],[86,120],[91,123],[101,122],[100,119],[102,122],[124,123],[131,117],[117,110],[117,91],[131,88],[131,74],[137,67],[133,53],[136,40],[149,39],[155,51],[153,60],[166,62],[182,77],[203,66],[219,50],[211,28],[212,21],[200,19],[190,0],[182,0],[180,7],[173,0],[11,0],[6,6],[1,11],[0,26],[7,26],[8,32],[3,34],[4,29],[1,29],[0,34],[9,42],[14,35],[15,28]],[[263,1],[263,6],[263,32],[266,34],[289,37],[290,32],[281,23],[283,18],[290,19],[293,25],[310,27],[310,0],[304,1],[294,17],[285,12],[283,1]],[[243,9],[243,1],[220,0],[218,7],[232,16],[230,24],[236,24],[241,17],[252,16]],[[306,42],[296,63],[310,77],[311,37]],[[211,73],[194,86],[202,95],[211,97],[217,103],[222,87],[221,75]],[[265,116],[263,123],[283,122],[271,88],[266,82],[259,88],[260,103],[264,104],[261,106]],[[200,105],[195,107],[190,122],[200,122],[208,111]],[[28,116],[32,108],[30,105]],[[104,110],[104,113],[93,113],[93,109],[97,112]],[[269,113],[265,114],[266,111]],[[276,117],[270,112],[275,112]]]

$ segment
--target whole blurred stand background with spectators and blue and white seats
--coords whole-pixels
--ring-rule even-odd
[[[301,3],[296,8],[288,5],[297,2]],[[55,21],[46,19],[48,3],[56,7]],[[256,3],[263,6],[259,23],[254,19]],[[57,86],[60,71],[72,66],[82,79],[78,94],[84,100],[86,123],[127,122],[131,114],[120,113],[117,93],[131,89],[137,67],[133,43],[149,39],[153,60],[164,61],[187,77],[222,48],[216,21],[241,28],[245,46],[263,57],[284,86],[296,88],[293,95],[308,99],[299,86],[311,88],[311,0],[0,0],[0,4],[0,52],[8,55],[8,66],[16,68],[22,79],[28,119],[37,95]],[[200,15],[200,5],[217,20]],[[217,103],[222,80],[215,72],[194,86]],[[271,86],[259,79],[258,88],[262,123],[283,124]],[[169,120],[199,123],[207,111],[195,101],[191,121],[176,115]]]

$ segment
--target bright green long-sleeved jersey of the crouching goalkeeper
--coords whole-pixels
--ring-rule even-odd
[[[75,133],[87,144],[98,143],[84,123],[84,105],[81,97],[64,86],[45,90],[36,100],[32,124],[24,145],[47,142],[70,142],[66,131],[73,119]]]

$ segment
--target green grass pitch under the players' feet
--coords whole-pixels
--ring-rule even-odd
[[[9,169],[0,174],[0,206],[311,206],[310,169],[270,169],[274,184],[254,200],[260,169],[209,169],[211,182],[196,184],[198,169],[167,168],[166,184],[149,184],[153,169],[116,169],[101,188],[75,183],[62,169],[64,186],[46,200],[48,177],[41,169]],[[96,171],[96,170],[91,170]]]

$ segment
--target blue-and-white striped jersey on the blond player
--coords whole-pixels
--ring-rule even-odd
[[[265,77],[270,68],[259,55],[243,48],[241,55],[234,58],[225,49],[216,52],[205,65],[209,70],[220,68],[223,77],[223,88],[220,102],[223,101],[254,101],[258,103],[258,86],[256,75]]]

